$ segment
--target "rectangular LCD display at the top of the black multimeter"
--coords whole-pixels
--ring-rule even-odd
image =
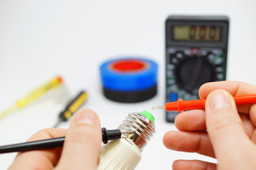
[[[173,26],[173,40],[220,41],[220,26]]]

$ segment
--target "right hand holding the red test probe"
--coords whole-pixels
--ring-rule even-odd
[[[232,97],[247,94],[256,94],[256,86],[238,81],[201,86],[199,96],[206,98],[205,111],[179,113],[175,125],[180,131],[167,132],[163,142],[169,149],[216,158],[218,164],[177,160],[172,164],[174,170],[256,169],[256,104],[236,107]]]

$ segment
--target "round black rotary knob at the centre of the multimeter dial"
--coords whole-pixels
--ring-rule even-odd
[[[214,81],[213,66],[204,57],[187,57],[177,64],[176,79],[179,88],[192,94],[195,89]]]

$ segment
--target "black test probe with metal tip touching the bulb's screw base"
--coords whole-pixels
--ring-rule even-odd
[[[122,134],[130,134],[135,132],[121,132],[121,130],[106,130],[106,128],[101,128],[101,131],[102,142],[104,142],[104,144],[108,143],[108,140],[116,140],[118,138],[121,138]],[[0,154],[63,147],[64,141],[65,137],[56,137],[48,140],[37,140],[13,145],[5,145],[0,147]]]

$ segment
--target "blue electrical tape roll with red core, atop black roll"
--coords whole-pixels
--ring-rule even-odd
[[[134,61],[143,64],[143,67],[126,70],[125,63]],[[123,64],[124,69],[116,69],[118,64]],[[104,88],[113,91],[140,91],[157,85],[157,64],[142,57],[108,60],[101,64],[100,72]]]

